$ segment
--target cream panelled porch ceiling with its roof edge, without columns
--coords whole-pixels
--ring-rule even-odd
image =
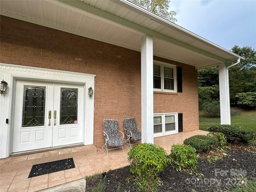
[[[148,34],[154,39],[154,55],[196,68],[239,57],[125,0],[2,0],[1,14],[135,51]]]

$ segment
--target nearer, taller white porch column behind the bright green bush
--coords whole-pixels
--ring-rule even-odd
[[[154,143],[153,38],[141,38],[141,142]]]

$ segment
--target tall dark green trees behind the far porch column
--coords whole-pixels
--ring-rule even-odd
[[[245,60],[229,69],[229,92],[230,103],[237,103],[237,93],[256,92],[256,51],[249,46],[239,47],[235,45],[232,52],[242,56]],[[231,65],[235,61],[229,61]],[[216,95],[219,91],[218,67],[198,70],[199,108],[210,100],[218,100]],[[212,92],[214,91],[214,92]],[[214,93],[214,94],[213,94]]]

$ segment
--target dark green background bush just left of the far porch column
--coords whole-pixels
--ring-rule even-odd
[[[202,110],[206,116],[219,117],[220,116],[220,102],[218,100],[204,102]]]

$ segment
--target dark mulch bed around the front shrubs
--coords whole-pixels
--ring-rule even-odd
[[[235,188],[244,181],[256,178],[256,153],[241,147],[227,150],[227,156],[218,161],[209,162],[206,158],[199,158],[195,173],[188,174],[172,169],[169,165],[160,174],[163,181],[158,191],[220,191]],[[138,191],[137,185],[126,178],[131,177],[129,166],[109,171],[105,179],[104,191]],[[86,191],[102,182],[102,175],[86,180]]]

